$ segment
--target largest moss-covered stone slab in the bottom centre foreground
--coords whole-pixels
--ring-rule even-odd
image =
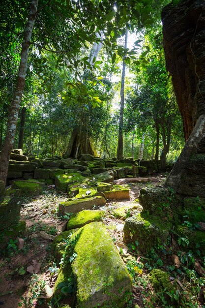
[[[102,222],[79,229],[72,271],[77,283],[77,307],[124,307],[123,295],[131,291],[131,277]]]

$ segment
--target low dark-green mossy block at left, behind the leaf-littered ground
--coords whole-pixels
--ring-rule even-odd
[[[42,193],[42,185],[32,180],[13,181],[11,188],[16,190],[15,194],[18,196],[37,196]]]

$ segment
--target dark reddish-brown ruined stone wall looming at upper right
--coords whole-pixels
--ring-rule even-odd
[[[205,0],[182,0],[162,12],[167,70],[173,78],[187,140],[205,114]]]

